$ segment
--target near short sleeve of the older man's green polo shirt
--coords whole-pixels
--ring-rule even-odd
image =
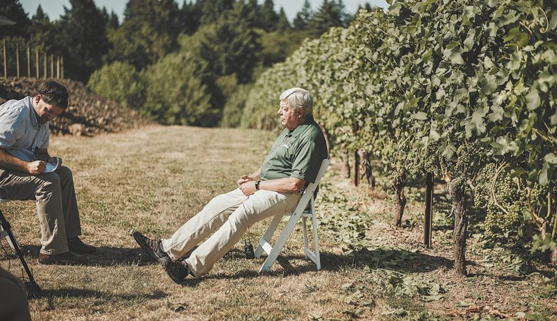
[[[306,180],[315,183],[317,173],[321,167],[321,153],[314,141],[303,141],[296,148],[296,156],[292,163],[292,173],[290,177]]]

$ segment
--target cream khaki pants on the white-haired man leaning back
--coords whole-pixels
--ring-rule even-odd
[[[291,213],[300,198],[300,193],[270,190],[258,190],[248,198],[239,188],[216,196],[171,238],[163,240],[163,248],[171,258],[179,260],[210,235],[186,259],[191,272],[200,277],[239,242],[249,226],[264,218]]]

